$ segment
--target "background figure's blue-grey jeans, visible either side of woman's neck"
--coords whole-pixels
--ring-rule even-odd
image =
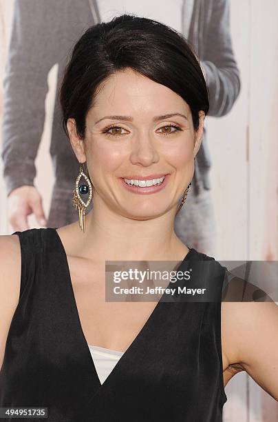
[[[70,189],[68,185],[54,185],[47,227],[58,228],[78,221],[78,211],[72,205],[73,190],[74,186]],[[94,198],[86,214],[92,210],[93,201]],[[186,201],[175,217],[174,229],[189,248],[195,248],[210,257],[215,256],[215,217],[211,190],[202,189],[199,194],[195,194],[193,186],[189,188]]]

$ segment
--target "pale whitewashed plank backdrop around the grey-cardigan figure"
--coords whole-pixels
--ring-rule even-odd
[[[13,6],[12,0],[0,0],[0,124]],[[113,14],[119,12],[113,10],[110,17]],[[277,17],[277,0],[231,0],[231,37],[241,90],[231,112],[221,119],[206,118],[213,163],[210,178],[217,222],[215,259],[218,260],[278,260]],[[34,184],[43,195],[46,216],[54,184],[49,149],[57,75],[58,63],[48,74],[45,123],[35,161]],[[14,230],[8,221],[2,174],[0,161],[0,234],[11,234]],[[32,228],[40,227],[33,215],[28,217],[28,222]],[[278,421],[277,401],[245,372],[234,376],[225,391],[228,397],[224,405],[225,422]]]

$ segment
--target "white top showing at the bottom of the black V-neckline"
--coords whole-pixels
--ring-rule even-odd
[[[124,352],[120,352],[119,350],[100,348],[99,346],[95,345],[89,345],[89,351],[92,354],[100,383],[103,384]]]

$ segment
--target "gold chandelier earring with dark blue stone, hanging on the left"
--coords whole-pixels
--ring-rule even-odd
[[[79,186],[79,182],[81,177],[85,179],[87,183],[83,183]],[[89,197],[87,199],[87,202],[84,202],[81,198],[81,195],[89,194]],[[89,206],[89,203],[92,200],[93,196],[93,189],[92,189],[92,183],[89,180],[89,177],[85,174],[83,171],[83,168],[79,168],[79,174],[76,178],[75,182],[75,188],[74,188],[74,196],[72,198],[72,203],[74,205],[74,208],[78,209],[78,215],[79,215],[79,227],[83,232],[85,232],[85,213],[86,208]]]

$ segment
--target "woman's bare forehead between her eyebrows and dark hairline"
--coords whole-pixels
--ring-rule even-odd
[[[100,86],[89,113],[100,114],[167,114],[190,112],[188,104],[167,86],[152,81],[138,72],[125,69],[112,74]]]

